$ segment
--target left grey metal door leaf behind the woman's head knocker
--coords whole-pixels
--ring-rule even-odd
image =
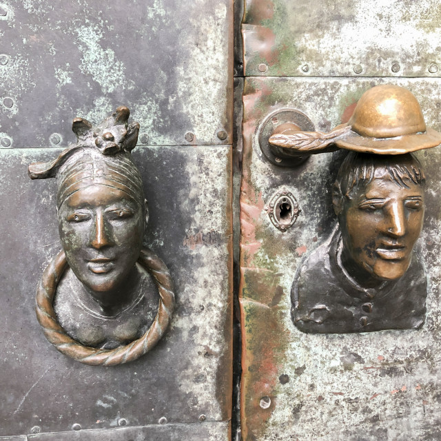
[[[232,389],[232,1],[0,2],[1,399],[7,440],[226,440]],[[61,247],[55,183],[27,168],[119,105],[176,311],[139,360],[57,352],[35,289]],[[3,438],[2,438],[3,439]]]

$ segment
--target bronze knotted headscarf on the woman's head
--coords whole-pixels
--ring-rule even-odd
[[[57,176],[57,207],[79,189],[96,184],[119,189],[143,206],[143,181],[130,155],[138,140],[139,123],[128,125],[129,116],[130,110],[121,106],[96,127],[85,119],[74,119],[76,145],[50,163],[31,164],[30,178]]]

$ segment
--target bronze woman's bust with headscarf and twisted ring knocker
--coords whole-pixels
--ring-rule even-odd
[[[63,245],[37,289],[37,318],[59,351],[86,365],[136,360],[163,336],[174,309],[170,272],[143,249],[147,201],[131,158],[139,123],[129,116],[118,107],[96,127],[76,118],[76,145],[29,166],[32,179],[57,177]]]

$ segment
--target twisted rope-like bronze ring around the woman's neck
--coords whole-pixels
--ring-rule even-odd
[[[153,276],[159,290],[158,313],[153,320],[152,326],[147,332],[137,340],[128,345],[117,347],[116,349],[96,349],[87,347],[76,342],[66,334],[65,330],[59,325],[55,314],[53,301],[57,285],[68,262],[63,250],[52,259],[48,267],[43,272],[39,286],[37,287],[37,306],[35,311],[37,319],[45,337],[65,356],[73,358],[85,365],[115,366],[122,365],[136,358],[143,356],[150,351],[161,339],[170,324],[175,305],[172,277],[165,263],[153,254],[150,249],[143,248],[138,262]]]

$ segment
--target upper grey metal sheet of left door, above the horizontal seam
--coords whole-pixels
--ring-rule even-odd
[[[232,0],[0,0],[1,147],[68,145],[119,105],[140,145],[230,144],[232,27]]]

